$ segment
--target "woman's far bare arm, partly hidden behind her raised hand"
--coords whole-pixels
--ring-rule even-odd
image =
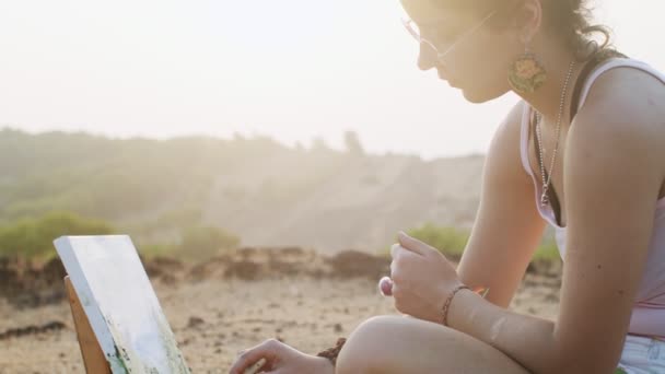
[[[492,140],[480,207],[457,268],[465,284],[489,288],[487,300],[502,307],[515,294],[545,226],[520,156],[522,110],[520,103]]]

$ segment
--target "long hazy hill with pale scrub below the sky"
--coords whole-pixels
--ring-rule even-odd
[[[269,138],[109,139],[0,131],[0,224],[50,211],[110,222],[138,242],[183,227],[228,230],[248,246],[376,250],[398,230],[468,227],[482,156],[423,161]]]

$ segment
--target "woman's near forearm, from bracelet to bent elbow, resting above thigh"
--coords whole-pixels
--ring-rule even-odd
[[[551,320],[510,312],[463,290],[451,304],[448,326],[497,348],[532,373],[557,370]]]

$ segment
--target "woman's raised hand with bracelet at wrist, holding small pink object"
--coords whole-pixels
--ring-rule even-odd
[[[390,248],[390,278],[380,281],[380,290],[395,297],[399,312],[441,323],[445,299],[462,284],[457,271],[430,245],[404,232],[399,233],[398,242]]]

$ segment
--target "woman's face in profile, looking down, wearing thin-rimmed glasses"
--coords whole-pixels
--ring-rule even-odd
[[[474,103],[510,90],[509,67],[524,50],[514,32],[495,26],[499,9],[455,10],[431,0],[401,0],[401,4],[411,20],[411,33],[421,38],[420,69],[436,69],[442,80]]]

